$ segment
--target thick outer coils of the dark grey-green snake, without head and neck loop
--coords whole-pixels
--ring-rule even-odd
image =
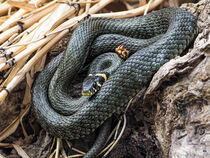
[[[89,135],[146,86],[164,63],[180,55],[196,34],[196,18],[179,8],[130,19],[85,20],[74,30],[66,51],[52,60],[36,79],[32,88],[35,116],[54,136],[78,139]],[[77,99],[73,100],[75,105],[69,105],[73,98],[68,94],[68,85],[91,52],[95,56],[114,52],[120,44],[131,56],[96,95],[80,107]],[[78,110],[69,112],[71,106]]]

